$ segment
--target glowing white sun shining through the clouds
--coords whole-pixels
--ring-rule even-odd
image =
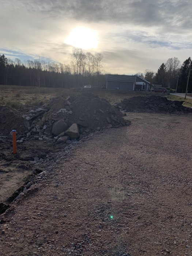
[[[96,49],[98,45],[97,32],[87,27],[75,27],[65,39],[65,44],[82,49]]]

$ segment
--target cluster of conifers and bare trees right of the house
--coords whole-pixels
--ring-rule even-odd
[[[191,65],[191,57],[180,65],[178,58],[170,58],[166,63],[162,63],[158,71],[146,69],[146,74],[140,76],[152,84],[161,84],[162,87],[176,89],[178,93],[185,93],[187,87],[187,79],[189,67]],[[188,92],[192,92],[192,72],[189,76]]]

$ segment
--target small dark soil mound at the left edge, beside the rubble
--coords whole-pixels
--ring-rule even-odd
[[[8,106],[0,106],[0,133],[9,134],[14,129],[19,133],[24,131],[20,113]]]

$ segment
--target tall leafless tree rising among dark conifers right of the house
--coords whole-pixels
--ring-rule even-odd
[[[180,68],[180,61],[178,58],[169,58],[166,62],[167,75],[169,79],[168,87],[172,86],[172,81],[174,76],[177,76],[178,70]]]

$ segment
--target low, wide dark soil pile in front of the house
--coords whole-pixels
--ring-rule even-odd
[[[116,104],[123,112],[192,112],[191,108],[182,106],[184,101],[170,101],[166,97],[151,95],[124,99]]]

